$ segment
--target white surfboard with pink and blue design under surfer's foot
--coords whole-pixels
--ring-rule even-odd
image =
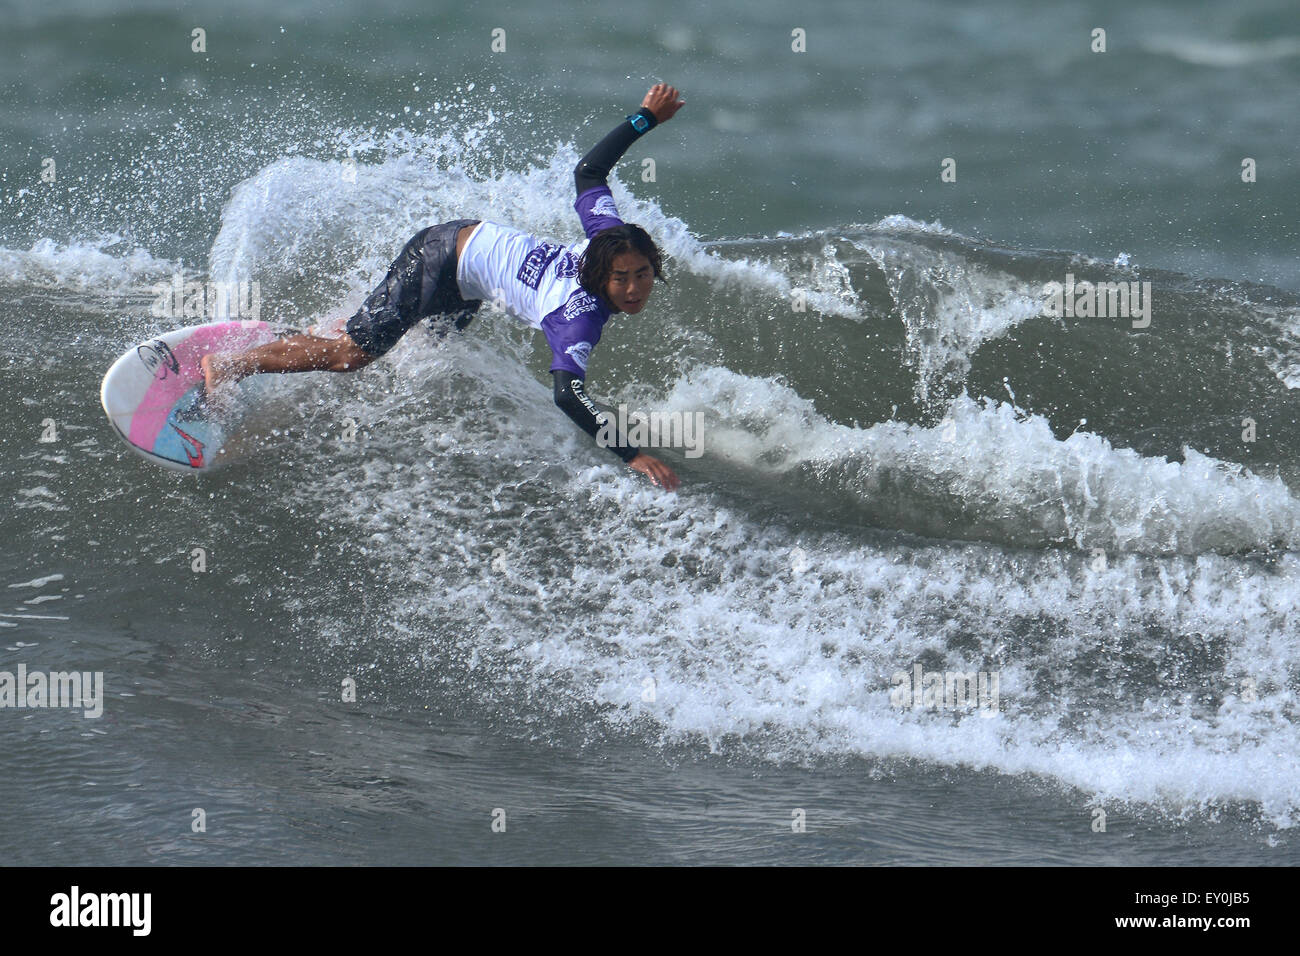
[[[100,386],[100,402],[117,434],[142,457],[173,471],[207,471],[222,460],[247,411],[247,395],[222,395],[212,403],[199,362],[209,352],[244,351],[289,334],[294,329],[251,320],[168,332],[113,363]],[[244,392],[256,377],[234,390]]]

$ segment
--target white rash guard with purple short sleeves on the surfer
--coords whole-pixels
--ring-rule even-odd
[[[456,282],[465,299],[491,302],[541,329],[551,346],[550,371],[585,378],[588,358],[612,311],[578,285],[578,258],[593,235],[623,220],[608,186],[586,190],[573,208],[586,239],[572,246],[480,222],[460,252]]]

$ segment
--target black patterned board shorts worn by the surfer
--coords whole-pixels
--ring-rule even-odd
[[[389,274],[347,320],[347,334],[368,355],[382,355],[416,323],[445,316],[443,332],[465,328],[482,299],[465,300],[456,285],[456,235],[476,219],[441,222],[416,233],[389,267]]]

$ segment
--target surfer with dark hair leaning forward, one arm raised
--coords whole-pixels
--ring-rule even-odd
[[[662,264],[650,235],[619,217],[610,170],[632,143],[684,104],[676,88],[656,83],[641,108],[578,161],[573,208],[585,242],[566,248],[480,220],[429,226],[407,242],[384,282],[347,321],[346,334],[298,334],[246,352],[207,355],[207,392],[261,372],[355,372],[389,351],[421,319],[430,319],[441,337],[452,328],[464,329],[482,300],[491,299],[546,336],[555,405],[595,438],[602,419],[585,390],[592,349],[612,315],[637,315],[646,307]],[[663,488],[680,484],[663,462],[623,434],[618,440],[608,447],[629,467]]]

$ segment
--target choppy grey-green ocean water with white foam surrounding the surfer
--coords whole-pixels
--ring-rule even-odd
[[[0,683],[104,682],[0,708],[4,862],[1300,862],[1294,4],[0,18]],[[211,475],[113,434],[159,284],[307,326],[433,222],[576,239],[660,79],[590,386],[699,416],[677,493],[491,308]]]

